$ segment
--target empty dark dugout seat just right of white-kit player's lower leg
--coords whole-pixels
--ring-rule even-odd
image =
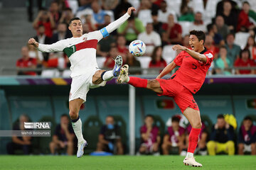
[[[82,126],[82,135],[88,142],[88,146],[85,149],[85,154],[90,154],[96,150],[101,127],[102,121],[97,115],[91,115],[87,118],[87,120],[85,120],[85,123]]]

